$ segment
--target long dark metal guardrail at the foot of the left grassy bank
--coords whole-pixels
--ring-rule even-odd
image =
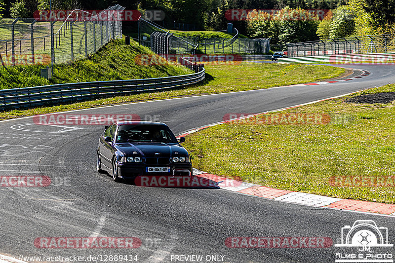
[[[81,101],[114,94],[163,90],[195,84],[204,79],[204,68],[194,74],[147,79],[94,81],[0,90],[0,110]]]

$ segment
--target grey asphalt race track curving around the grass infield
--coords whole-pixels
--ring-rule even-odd
[[[227,113],[261,113],[395,83],[394,66],[355,68],[367,70],[370,75],[333,84],[197,96],[74,113],[134,113],[148,119],[156,115],[175,134],[181,134],[222,121]],[[106,255],[137,255],[137,262],[144,263],[197,262],[182,257],[177,261],[176,256],[202,255],[203,260],[198,262],[329,263],[335,262],[341,248],[228,248],[225,240],[232,236],[329,237],[335,244],[340,242],[341,228],[356,220],[373,220],[387,227],[388,242],[395,243],[393,217],[297,205],[223,189],[115,183],[110,176],[96,172],[97,142],[102,131],[103,127],[95,125],[36,125],[31,117],[0,122],[0,175],[41,175],[52,181],[48,187],[0,188],[0,254],[84,256],[84,262],[101,262],[87,260],[99,255],[103,260]],[[142,246],[47,249],[35,246],[40,237],[138,237]],[[394,253],[394,247],[387,249]],[[206,258],[211,255],[220,257]]]

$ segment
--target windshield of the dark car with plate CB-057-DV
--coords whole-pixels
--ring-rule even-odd
[[[117,143],[125,142],[177,143],[177,139],[163,125],[121,125],[118,127]]]

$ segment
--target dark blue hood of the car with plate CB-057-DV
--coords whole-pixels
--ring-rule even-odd
[[[140,153],[145,157],[158,157],[155,153],[159,153],[160,157],[171,157],[173,155],[186,155],[187,150],[178,144],[162,144],[162,143],[119,143],[115,146],[117,150],[125,156],[132,156],[133,151]],[[176,153],[178,152],[178,153]]]

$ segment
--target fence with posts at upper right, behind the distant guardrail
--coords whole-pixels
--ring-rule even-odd
[[[286,44],[288,57],[395,52],[395,35],[336,38]]]

